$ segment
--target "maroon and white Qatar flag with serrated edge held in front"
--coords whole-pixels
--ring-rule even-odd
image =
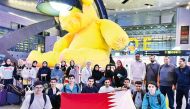
[[[61,109],[136,109],[130,91],[61,95]]]

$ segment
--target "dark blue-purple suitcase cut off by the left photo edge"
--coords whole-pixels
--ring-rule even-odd
[[[7,104],[7,90],[2,89],[0,90],[0,106]]]

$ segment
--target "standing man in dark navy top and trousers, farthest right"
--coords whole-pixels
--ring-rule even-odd
[[[175,69],[177,78],[177,92],[176,92],[176,109],[181,109],[182,99],[185,96],[186,109],[188,108],[188,93],[190,89],[190,67],[186,65],[185,59],[179,59],[179,67]]]

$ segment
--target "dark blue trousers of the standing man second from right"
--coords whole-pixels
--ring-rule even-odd
[[[168,96],[169,107],[170,109],[174,109],[174,91],[172,90],[172,86],[160,86],[161,93]]]

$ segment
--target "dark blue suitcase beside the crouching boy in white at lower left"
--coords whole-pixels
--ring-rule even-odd
[[[7,92],[7,104],[20,105],[22,103],[21,97],[12,92]]]

